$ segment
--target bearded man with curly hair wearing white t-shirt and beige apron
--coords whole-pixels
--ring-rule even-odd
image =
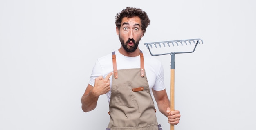
[[[150,24],[148,15],[139,8],[126,7],[115,18],[121,47],[97,60],[81,98],[82,110],[93,110],[99,96],[106,94],[110,114],[106,130],[161,130],[152,92],[168,123],[178,124],[180,112],[170,111],[162,63],[138,48]]]

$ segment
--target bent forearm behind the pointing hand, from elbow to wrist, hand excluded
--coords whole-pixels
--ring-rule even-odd
[[[84,112],[94,110],[94,108],[96,108],[98,99],[99,95],[95,94],[92,90],[88,94],[83,95],[81,98],[82,110]]]

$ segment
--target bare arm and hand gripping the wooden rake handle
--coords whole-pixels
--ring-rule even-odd
[[[180,111],[170,109],[170,100],[168,99],[166,90],[155,91],[152,89],[153,95],[155,97],[155,101],[157,102],[157,106],[159,111],[168,117],[168,122],[171,125],[177,125],[180,121]]]

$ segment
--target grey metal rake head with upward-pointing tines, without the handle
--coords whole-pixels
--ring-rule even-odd
[[[203,44],[203,41],[201,39],[187,39],[187,40],[172,40],[172,41],[153,42],[153,43],[144,43],[144,44],[146,45],[146,47],[148,48],[152,56],[159,56],[159,55],[166,55],[166,54],[191,53],[195,51],[196,46],[200,43]],[[157,50],[162,47],[167,49],[161,49],[159,50],[160,52],[157,52]],[[171,52],[170,52],[170,49],[171,49]]]

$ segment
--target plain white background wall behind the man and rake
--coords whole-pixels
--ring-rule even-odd
[[[148,13],[144,43],[201,38],[175,55],[175,130],[255,130],[254,0],[0,0],[0,130],[105,130],[106,96],[84,113],[97,58],[118,49],[115,15]],[[169,92],[170,56],[157,56]],[[157,113],[164,130],[166,117]]]

